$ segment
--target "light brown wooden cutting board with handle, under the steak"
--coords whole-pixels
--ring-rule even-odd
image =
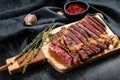
[[[101,19],[101,21],[103,21],[102,18],[100,17],[100,15],[97,14],[96,17]],[[75,24],[75,23],[76,22],[71,23],[71,24]],[[61,27],[68,27],[71,24],[64,25],[64,26],[61,26]],[[61,27],[58,27],[58,28],[54,29],[52,31],[52,33],[54,34],[54,33],[58,32],[61,29]],[[114,35],[114,33],[109,29],[109,27],[107,25],[106,25],[106,28],[107,28],[107,32],[109,33],[109,35]],[[103,52],[95,55],[94,57],[91,57],[89,60],[85,61],[84,63],[80,63],[79,65],[68,66],[68,65],[65,64],[65,62],[59,56],[57,56],[54,52],[52,52],[49,49],[49,45],[50,45],[50,43],[45,44],[41,48],[39,54],[29,62],[29,67],[33,67],[35,65],[38,65],[38,64],[41,64],[41,63],[44,63],[44,62],[48,62],[58,72],[64,73],[64,72],[70,71],[74,68],[77,68],[77,67],[83,66],[85,64],[88,64],[88,63],[90,63],[92,61],[95,61],[97,59],[100,59],[100,58],[103,58],[103,57],[108,56],[110,54],[113,54],[117,51],[120,51],[120,44],[119,44],[116,48],[114,48],[112,50],[104,50]],[[8,66],[8,71],[9,71],[10,74],[22,71],[25,63],[23,62],[22,64],[19,64],[21,58],[18,59],[17,61],[15,61],[15,57],[12,57],[12,58],[9,58],[9,59],[6,60],[6,63],[7,63],[7,66]],[[5,67],[5,66],[3,66],[3,67]]]

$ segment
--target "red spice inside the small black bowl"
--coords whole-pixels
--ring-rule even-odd
[[[84,10],[85,10],[85,8],[77,3],[68,5],[68,7],[66,8],[66,11],[70,14],[78,14]]]

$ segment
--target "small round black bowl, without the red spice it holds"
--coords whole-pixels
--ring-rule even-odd
[[[77,14],[69,13],[66,9],[68,8],[68,6],[74,5],[74,4],[78,4],[78,5],[82,6],[84,8],[84,10],[77,13]],[[64,5],[64,13],[66,16],[68,16],[70,18],[83,17],[86,14],[86,12],[88,11],[88,9],[89,9],[89,4],[87,2],[84,2],[84,1],[70,1]]]

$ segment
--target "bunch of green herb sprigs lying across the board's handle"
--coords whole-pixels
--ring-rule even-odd
[[[48,25],[47,28],[45,28],[41,33],[39,33],[33,40],[32,42],[27,45],[15,58],[15,61],[18,60],[20,57],[22,57],[26,52],[26,55],[21,59],[20,64],[22,64],[25,59],[25,65],[23,68],[23,73],[25,73],[28,63],[31,61],[31,59],[35,58],[37,54],[39,53],[41,47],[43,46],[44,43],[48,43],[51,41],[53,34],[51,33],[51,30],[55,27],[54,21]],[[33,58],[31,58],[33,56]]]

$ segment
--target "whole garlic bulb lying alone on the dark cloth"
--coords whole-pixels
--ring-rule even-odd
[[[33,25],[37,21],[37,17],[34,14],[28,14],[24,18],[26,25]]]

